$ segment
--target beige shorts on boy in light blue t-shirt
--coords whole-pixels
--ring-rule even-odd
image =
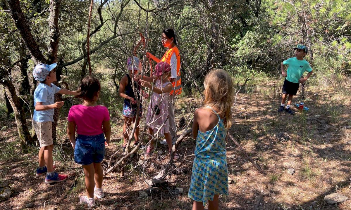
[[[52,122],[37,122],[33,120],[33,127],[39,139],[40,147],[46,147],[54,142],[52,141]]]

